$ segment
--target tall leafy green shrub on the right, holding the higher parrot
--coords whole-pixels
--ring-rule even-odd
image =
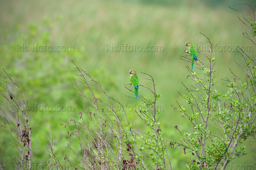
[[[252,31],[255,25],[254,14],[254,11],[253,17],[246,14],[252,21]],[[243,34],[255,44],[248,34]],[[252,34],[255,37],[254,31]],[[178,144],[184,147],[184,153],[191,153],[191,162],[186,165],[189,170],[224,170],[231,161],[246,154],[241,142],[248,137],[255,139],[256,136],[256,61],[237,47],[236,51],[244,59],[245,67],[238,65],[245,76],[240,78],[230,70],[233,79],[224,80],[227,92],[221,94],[215,88],[218,82],[215,80],[212,42],[207,38],[202,45],[209,49],[209,54],[201,53],[209,63],[200,60],[196,63],[203,75],[187,67],[190,74],[188,79],[194,85],[183,84],[188,93],[180,94],[191,110],[179,103],[178,108],[174,107],[191,122],[193,133],[182,133],[176,126],[182,138],[180,142],[172,141],[171,145]],[[182,56],[182,59],[191,62],[189,58]],[[252,149],[255,152],[255,148]]]

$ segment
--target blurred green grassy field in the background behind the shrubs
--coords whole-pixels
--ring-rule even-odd
[[[236,52],[224,51],[224,46],[251,45],[242,35],[249,31],[238,19],[237,11],[228,8],[240,1],[218,1],[215,6],[208,1],[183,1],[179,3],[162,1],[133,0],[85,0],[85,1],[1,1],[0,2],[0,68],[4,68],[12,78],[24,89],[29,105],[72,105],[72,111],[34,111],[32,113],[33,127],[33,161],[47,161],[47,139],[39,127],[47,131],[51,126],[55,138],[55,150],[64,161],[58,150],[65,147],[68,141],[67,131],[60,124],[70,119],[79,119],[79,112],[84,111],[85,99],[74,89],[74,63],[90,73],[113,98],[128,105],[141,105],[140,101],[128,98],[133,96],[124,85],[129,83],[129,70],[134,69],[139,74],[140,84],[147,84],[145,76],[148,73],[157,84],[157,92],[162,94],[158,100],[164,111],[160,116],[162,131],[166,139],[177,141],[175,125],[180,130],[189,130],[189,122],[175,112],[172,105],[176,100],[186,105],[177,95],[186,93],[181,85],[192,82],[186,79],[189,74],[186,65],[190,63],[180,59],[185,55],[186,41],[200,45],[206,39],[204,33],[217,48],[214,56],[216,63],[216,80],[220,82],[218,91],[227,91],[221,79],[232,77],[229,69],[236,74],[239,71],[235,62],[242,62]],[[255,7],[255,6],[254,6]],[[246,9],[245,9],[246,10]],[[31,45],[72,45],[73,52],[17,52],[17,44]],[[108,52],[108,45],[147,45],[163,46],[163,52]],[[254,55],[256,49],[248,54]],[[198,58],[206,62],[202,54]],[[199,71],[194,65],[194,71]],[[5,77],[0,71],[0,77]],[[140,89],[139,94],[148,96]],[[1,101],[0,101],[1,102]],[[129,119],[140,130],[142,123],[131,111]],[[13,148],[2,139],[10,136],[1,130],[1,156],[6,162],[12,156]],[[254,159],[248,150],[247,155],[236,159],[236,164],[252,164]],[[59,151],[59,152],[58,152]],[[173,169],[184,170],[189,164],[189,155],[183,154],[183,149],[170,150]]]

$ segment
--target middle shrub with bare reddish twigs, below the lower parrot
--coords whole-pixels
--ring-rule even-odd
[[[136,113],[148,127],[148,131],[138,134],[128,120],[123,104],[103,90],[101,84],[86,71],[76,66],[79,71],[74,82],[82,99],[86,99],[85,111],[81,111],[81,120],[71,119],[62,124],[68,128],[67,138],[77,144],[79,150],[69,145],[65,160],[75,169],[148,169],[145,160],[150,159],[154,169],[171,169],[166,150],[166,142],[158,122],[157,98],[154,79],[145,74],[153,85],[153,90],[145,85],[141,87],[152,93],[153,98],[140,97],[144,108],[137,108]],[[125,85],[128,91],[130,84]],[[130,85],[131,86],[131,85]],[[133,91],[131,91],[133,92]],[[97,96],[101,96],[100,98]],[[118,107],[116,107],[118,105]],[[142,143],[143,142],[143,143]],[[146,161],[148,162],[148,161]]]

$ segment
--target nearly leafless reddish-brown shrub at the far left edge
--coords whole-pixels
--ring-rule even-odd
[[[4,72],[6,73],[6,71]],[[20,86],[12,80],[9,74],[6,73],[6,76],[6,78],[0,79],[0,94],[6,102],[0,103],[0,111],[2,112],[0,121],[1,130],[6,130],[12,140],[3,140],[14,147],[14,157],[8,159],[12,160],[15,169],[30,170],[32,167],[31,113],[27,110],[27,102]],[[1,158],[0,169],[5,169],[5,167],[12,169],[8,164],[5,164],[5,159],[7,158]]]

